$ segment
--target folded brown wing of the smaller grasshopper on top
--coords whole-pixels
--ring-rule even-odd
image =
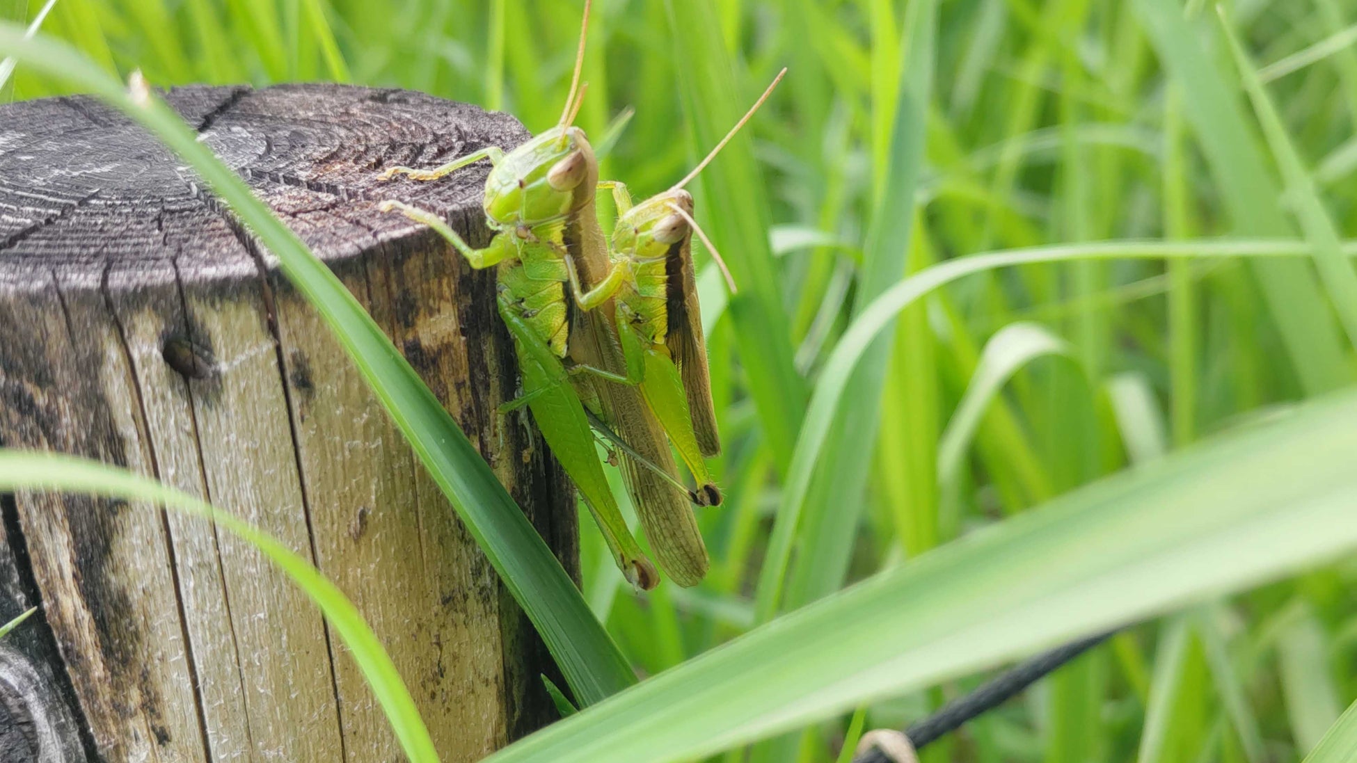
[[[716,411],[711,401],[711,375],[707,371],[707,340],[702,336],[702,310],[697,306],[697,278],[692,263],[692,234],[674,244],[666,257],[666,295],[669,325],[666,327],[669,352],[683,375],[692,413],[692,431],[697,435],[702,454],[721,453],[716,432]]]

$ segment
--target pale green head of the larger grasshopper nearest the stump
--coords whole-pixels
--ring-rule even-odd
[[[535,225],[578,210],[598,178],[579,127],[552,127],[518,146],[486,179],[486,214],[503,225]],[[577,194],[585,188],[589,192]]]

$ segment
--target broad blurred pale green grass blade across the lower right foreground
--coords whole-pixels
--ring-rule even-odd
[[[487,760],[668,763],[1357,546],[1357,397],[1096,482],[689,660]]]

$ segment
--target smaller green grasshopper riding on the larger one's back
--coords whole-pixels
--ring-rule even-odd
[[[711,491],[707,497],[711,504],[721,503],[721,493],[703,457],[718,455],[721,439],[693,276],[693,232],[707,244],[731,293],[735,285],[721,253],[693,220],[692,194],[683,187],[721,153],[768,100],[786,73],[786,69],[779,72],[716,148],[668,191],[632,206],[626,184],[598,184],[612,190],[620,214],[609,247],[612,271],[593,291],[577,290],[574,294],[575,302],[585,310],[616,300],[616,331],[626,355],[627,375],[622,379],[605,378],[641,386],[646,404],[660,419],[693,478]],[[573,267],[574,263],[567,259],[566,264]],[[578,281],[571,278],[571,285]]]

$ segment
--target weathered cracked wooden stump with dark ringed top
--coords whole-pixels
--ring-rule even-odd
[[[577,566],[565,476],[506,427],[513,347],[493,272],[379,199],[487,232],[484,169],[379,184],[528,137],[391,89],[167,94],[343,279]],[[0,446],[96,458],[232,511],[311,558],[391,652],[444,760],[554,713],[550,657],[320,317],[153,138],[85,98],[0,108]],[[83,496],[4,496],[0,758],[391,762],[399,748],[318,610],[210,523]]]

